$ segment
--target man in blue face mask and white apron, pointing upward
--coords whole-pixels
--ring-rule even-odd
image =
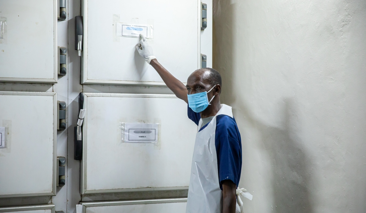
[[[221,76],[212,68],[194,71],[185,86],[153,55],[143,35],[136,49],[174,94],[188,103],[188,118],[198,125],[187,213],[235,213],[242,168],[242,143],[231,107],[220,104]],[[237,211],[238,211],[237,210]]]

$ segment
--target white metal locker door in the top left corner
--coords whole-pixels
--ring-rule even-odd
[[[57,82],[56,0],[0,0],[0,82]]]

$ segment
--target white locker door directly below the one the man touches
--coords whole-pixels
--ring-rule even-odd
[[[188,189],[197,126],[175,95],[85,93],[81,193]],[[122,141],[121,123],[158,123],[157,143]]]

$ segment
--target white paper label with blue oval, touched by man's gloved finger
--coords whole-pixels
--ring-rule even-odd
[[[152,38],[153,35],[152,25],[146,24],[126,24],[117,23],[116,35],[125,37],[140,37],[140,34],[144,35],[145,38]]]

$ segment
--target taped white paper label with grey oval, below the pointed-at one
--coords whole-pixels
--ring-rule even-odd
[[[123,142],[156,143],[158,142],[157,123],[125,123],[122,129]]]

